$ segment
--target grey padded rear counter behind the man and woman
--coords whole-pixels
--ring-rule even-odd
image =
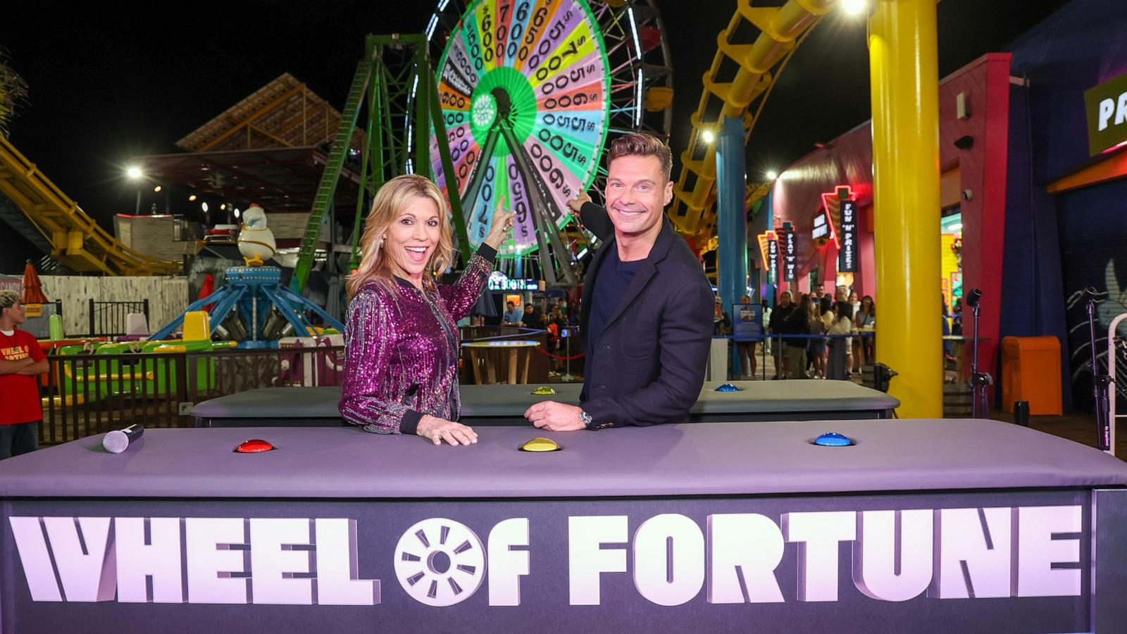
[[[690,411],[692,422],[890,419],[899,400],[850,381],[731,381],[740,391],[716,391],[707,381]],[[551,384],[557,394],[534,395],[534,385],[462,386],[462,422],[523,425],[541,400],[578,404],[579,384]],[[196,426],[338,426],[339,387],[255,389],[199,403]]]

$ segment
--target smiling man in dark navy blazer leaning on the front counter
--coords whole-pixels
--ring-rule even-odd
[[[580,405],[547,400],[525,412],[551,431],[680,423],[704,382],[712,289],[665,218],[673,200],[669,148],[627,134],[607,152],[606,209],[586,194],[584,224],[603,240],[584,279]],[[580,206],[582,205],[582,206]]]

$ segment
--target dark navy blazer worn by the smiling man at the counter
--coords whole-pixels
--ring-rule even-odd
[[[603,240],[584,278],[582,343],[591,361],[583,410],[592,429],[689,421],[704,384],[712,340],[712,285],[693,252],[663,218],[662,232],[598,341],[587,341],[598,268],[618,248],[606,210],[587,203],[584,226]]]

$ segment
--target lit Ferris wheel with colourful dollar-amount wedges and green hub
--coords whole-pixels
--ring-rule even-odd
[[[613,137],[668,138],[672,67],[653,0],[441,0],[426,35],[446,127],[431,133],[433,171],[459,196],[471,244],[498,206],[512,209],[498,255],[532,259],[551,285],[575,284],[592,238],[567,201],[602,191]]]

